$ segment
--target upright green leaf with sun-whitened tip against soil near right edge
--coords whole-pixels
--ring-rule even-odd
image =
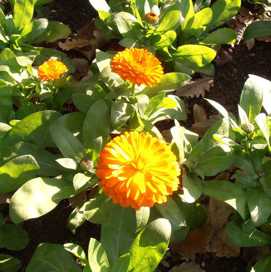
[[[264,87],[258,78],[256,75],[249,75],[240,97],[240,107],[246,112],[250,123],[254,123],[255,117],[261,112]]]

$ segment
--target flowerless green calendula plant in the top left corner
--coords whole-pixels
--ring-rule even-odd
[[[33,20],[34,11],[37,7],[50,3],[49,0],[14,0],[10,1],[13,14],[5,15],[0,7],[0,50],[10,48],[16,57],[35,56],[41,48],[31,46],[33,43],[45,41],[47,43],[69,37],[71,30],[67,25],[45,18]],[[47,49],[43,49],[46,53]],[[50,51],[47,51],[51,54]],[[51,55],[49,55],[51,56]],[[39,56],[36,61],[39,63]]]

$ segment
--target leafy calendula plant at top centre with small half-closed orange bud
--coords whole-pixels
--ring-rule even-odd
[[[210,62],[221,44],[231,44],[236,34],[222,28],[237,14],[240,0],[209,1],[89,1],[99,13],[98,28],[105,38],[119,38],[124,47],[146,48],[156,54],[169,71],[214,74]]]

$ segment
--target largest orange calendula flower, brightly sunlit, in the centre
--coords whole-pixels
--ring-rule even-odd
[[[180,169],[166,143],[141,132],[124,132],[100,153],[99,185],[123,207],[153,207],[176,191]]]

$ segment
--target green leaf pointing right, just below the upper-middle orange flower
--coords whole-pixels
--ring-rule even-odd
[[[140,94],[146,94],[149,98],[161,93],[172,92],[186,85],[191,77],[183,73],[166,73],[162,80],[154,87],[145,87]]]

